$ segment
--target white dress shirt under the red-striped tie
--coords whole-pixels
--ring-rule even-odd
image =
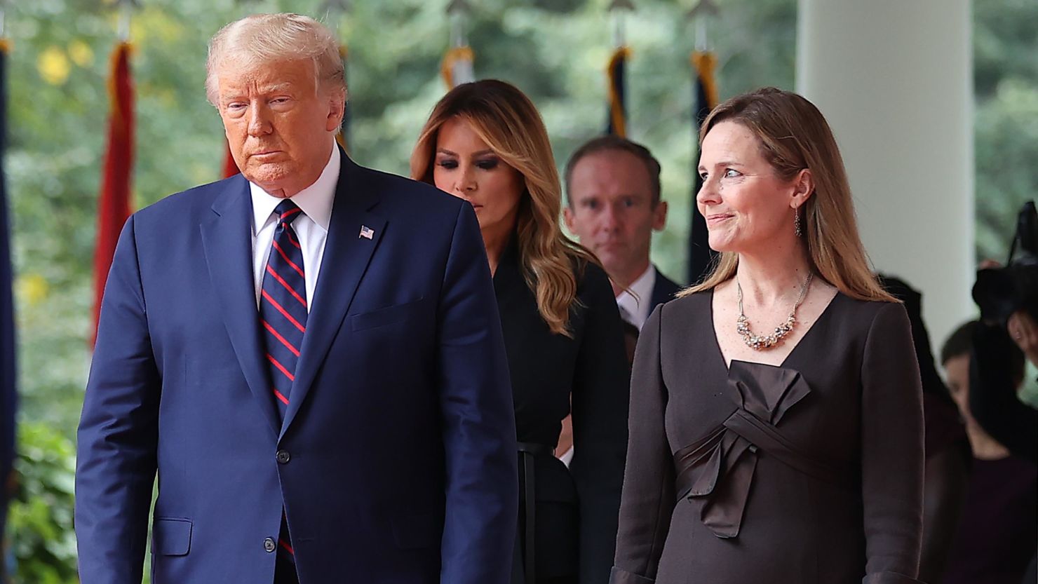
[[[313,290],[318,286],[318,273],[321,271],[321,258],[324,257],[325,242],[328,240],[328,225],[331,221],[331,206],[335,200],[335,187],[338,184],[338,170],[342,162],[338,160],[338,148],[332,147],[331,157],[325,165],[321,176],[309,187],[289,197],[303,212],[292,228],[299,238],[299,247],[303,251],[303,274],[306,277],[306,310],[313,306]],[[267,271],[267,258],[270,256],[274,231],[277,229],[277,218],[274,207],[284,200],[267,194],[258,185],[249,182],[249,192],[252,195],[252,274],[256,289],[256,307],[260,307],[260,295],[263,290],[263,277]]]

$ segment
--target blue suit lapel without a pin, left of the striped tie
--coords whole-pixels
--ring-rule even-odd
[[[199,228],[209,277],[230,344],[249,390],[276,434],[280,424],[262,361],[264,350],[252,274],[251,222],[248,183],[239,175],[227,183],[213,203],[213,215],[203,220]]]

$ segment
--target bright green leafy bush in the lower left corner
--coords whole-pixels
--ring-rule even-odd
[[[79,582],[72,529],[75,455],[72,442],[47,424],[19,427],[19,483],[7,525],[16,583]]]

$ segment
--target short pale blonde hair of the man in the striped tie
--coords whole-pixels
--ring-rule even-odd
[[[221,28],[209,41],[206,60],[206,98],[219,107],[216,69],[228,56],[247,64],[309,59],[313,62],[313,86],[346,92],[346,75],[338,41],[318,21],[282,12],[252,15]]]

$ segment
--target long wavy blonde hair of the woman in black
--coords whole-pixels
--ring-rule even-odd
[[[452,89],[433,108],[411,154],[411,177],[433,180],[436,140],[448,119],[465,120],[490,149],[522,174],[516,237],[526,284],[541,317],[554,334],[572,336],[570,308],[577,301],[577,276],[595,256],[563,234],[558,223],[562,187],[544,121],[518,88],[483,80]]]

